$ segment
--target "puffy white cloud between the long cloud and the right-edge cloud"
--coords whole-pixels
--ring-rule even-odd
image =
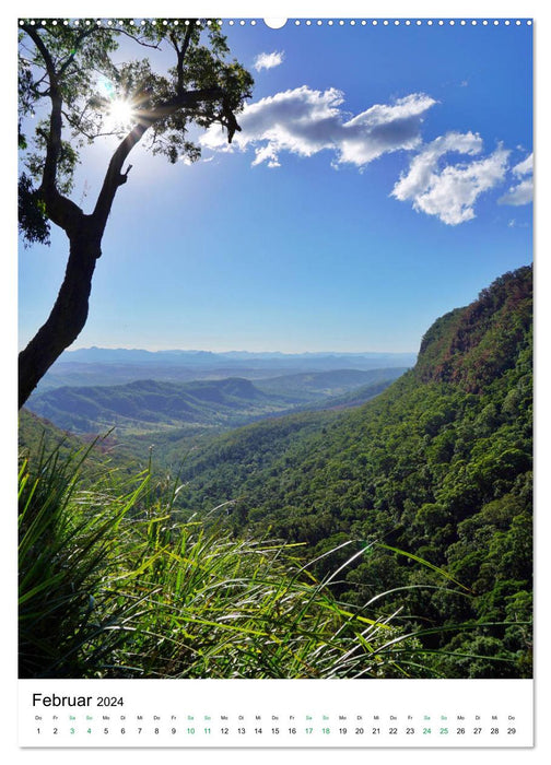
[[[483,160],[455,165],[444,165],[442,157],[450,152],[472,156],[481,150],[482,139],[477,133],[441,136],[412,160],[391,196],[411,200],[418,212],[436,215],[448,225],[473,219],[479,196],[503,181],[509,152],[500,146]]]

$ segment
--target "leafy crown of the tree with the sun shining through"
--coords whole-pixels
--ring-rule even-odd
[[[175,66],[160,73],[149,58],[116,60],[124,39],[136,51],[149,55],[171,50]],[[71,191],[79,152],[103,136],[122,139],[140,125],[148,130],[148,146],[174,163],[186,156],[199,158],[200,146],[189,138],[192,125],[208,128],[218,122],[231,140],[238,129],[235,115],[250,96],[253,78],[230,54],[220,24],[214,20],[120,20],[109,25],[95,19],[48,20],[45,25],[22,20],[19,58],[19,146],[25,168],[20,181],[20,231],[27,243],[48,243],[40,211],[39,190],[48,150],[55,148],[55,183],[65,195]],[[117,57],[118,58],[118,57]],[[188,94],[206,93],[196,99]],[[132,110],[129,122],[114,123],[110,109],[125,101]],[[52,127],[56,114],[67,130]],[[46,109],[45,119],[42,115]],[[36,116],[39,119],[35,120]],[[59,143],[59,145],[57,145]],[[46,227],[46,229],[45,229]]]

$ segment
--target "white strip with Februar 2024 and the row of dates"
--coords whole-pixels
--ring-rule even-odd
[[[529,680],[21,681],[20,745],[526,748],[531,707]]]

